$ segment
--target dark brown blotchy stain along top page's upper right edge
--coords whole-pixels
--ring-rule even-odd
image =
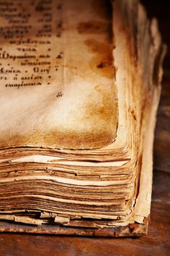
[[[91,61],[89,61],[89,68],[95,71],[97,75],[114,79],[112,4],[109,0],[93,0],[91,1],[91,9],[97,14],[98,19],[79,22],[77,26],[79,34],[89,35],[89,39],[84,42],[88,50],[94,53]],[[95,34],[101,35],[101,40],[95,39]]]

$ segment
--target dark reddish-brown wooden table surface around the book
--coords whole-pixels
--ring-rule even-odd
[[[170,45],[168,1],[144,1],[150,17],[156,16],[164,42]],[[170,46],[169,46],[170,48]],[[164,61],[164,80],[158,109],[154,146],[151,226],[141,238],[60,237],[0,234],[0,256],[8,255],[170,255],[170,49]]]

